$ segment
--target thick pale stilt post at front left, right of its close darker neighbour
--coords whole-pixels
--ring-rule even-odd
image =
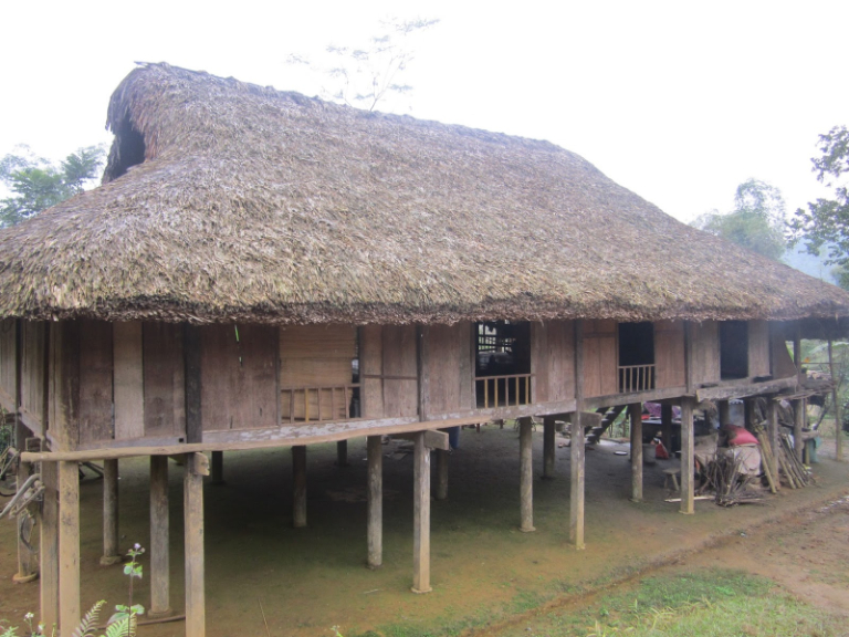
[[[80,624],[80,468],[59,463],[59,634]]]

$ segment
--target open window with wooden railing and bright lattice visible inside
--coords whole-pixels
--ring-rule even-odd
[[[474,386],[479,408],[531,401],[528,323],[484,321],[474,325]]]

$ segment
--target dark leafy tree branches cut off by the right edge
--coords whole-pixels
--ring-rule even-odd
[[[819,254],[828,248],[826,264],[837,265],[841,285],[849,285],[849,189],[846,175],[849,174],[849,129],[835,126],[819,136],[820,157],[814,157],[814,173],[817,180],[834,188],[834,199],[817,199],[807,209],[796,210],[789,226],[793,242],[804,240],[811,254]]]

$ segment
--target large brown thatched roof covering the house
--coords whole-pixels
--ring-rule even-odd
[[[0,316],[269,323],[849,315],[545,142],[146,64],[99,188],[0,233]]]

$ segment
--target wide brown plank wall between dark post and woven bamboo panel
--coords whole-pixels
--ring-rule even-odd
[[[200,328],[200,413],[205,431],[276,427],[279,330],[268,325]]]

